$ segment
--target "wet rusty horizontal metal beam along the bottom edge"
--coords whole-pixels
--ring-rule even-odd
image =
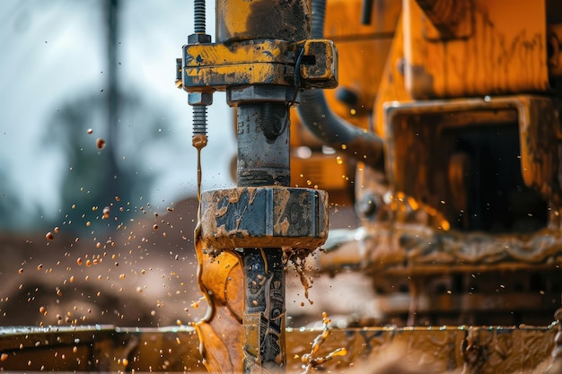
[[[347,355],[321,365],[342,373],[377,372],[377,365],[392,355],[413,372],[429,365],[434,373],[543,373],[552,362],[554,327],[332,329],[318,355],[345,348]],[[311,328],[287,331],[286,372],[302,372],[301,356],[310,352],[319,334],[320,329]],[[0,347],[0,368],[5,371],[206,372],[197,335],[189,326],[10,328],[0,330]]]

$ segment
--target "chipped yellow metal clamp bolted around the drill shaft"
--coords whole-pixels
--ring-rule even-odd
[[[297,61],[301,51],[302,63]],[[295,78],[297,64],[301,76]],[[200,88],[224,91],[229,86],[248,84],[301,88],[338,85],[338,52],[331,40],[324,39],[295,43],[251,39],[231,44],[188,44],[183,47],[182,65],[182,87],[186,91]]]

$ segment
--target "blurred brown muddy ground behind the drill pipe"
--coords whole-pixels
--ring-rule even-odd
[[[106,232],[77,235],[61,225],[46,232],[0,234],[0,326],[170,326],[203,317],[193,248],[197,200],[153,208]],[[155,214],[156,213],[156,214]],[[331,227],[356,224],[353,213],[330,214]],[[317,256],[321,256],[318,254]],[[309,300],[287,274],[288,324],[332,315],[369,314],[370,283],[360,274],[331,278],[310,272]]]

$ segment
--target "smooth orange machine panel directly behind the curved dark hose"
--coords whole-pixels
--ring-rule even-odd
[[[347,122],[368,129],[372,126],[372,111],[379,83],[395,36],[401,12],[401,0],[378,0],[373,6],[373,22],[357,22],[363,0],[329,0],[326,4],[324,35],[338,48],[338,88],[324,91],[329,107]],[[394,64],[395,60],[393,60]],[[395,64],[394,64],[395,65]],[[350,94],[355,100],[342,100]],[[349,96],[349,95],[347,95]],[[291,118],[291,144],[319,148],[321,144],[303,128],[299,118]],[[306,175],[305,175],[306,178]],[[296,180],[296,179],[294,179]],[[306,179],[305,179],[306,180]],[[322,187],[321,184],[319,186]],[[333,187],[328,189],[335,196]],[[335,200],[334,200],[335,201]]]

